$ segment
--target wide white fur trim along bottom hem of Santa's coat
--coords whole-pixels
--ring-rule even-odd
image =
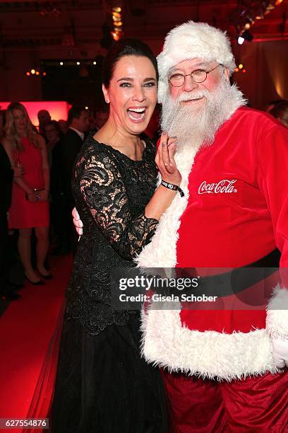
[[[227,381],[277,372],[265,329],[201,333],[182,327],[179,312],[150,308],[148,314],[143,313],[142,354],[146,361],[170,372]]]

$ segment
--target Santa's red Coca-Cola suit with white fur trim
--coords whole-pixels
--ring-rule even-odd
[[[194,154],[185,149],[176,156],[185,197],[175,197],[138,264],[196,267],[201,273],[204,267],[247,266],[277,247],[280,266],[288,267],[288,129],[241,107],[217,131],[215,142]],[[288,429],[288,376],[277,373],[270,338],[288,335],[287,311],[281,309],[287,299],[287,290],[278,287],[268,317],[263,307],[235,309],[225,298],[223,308],[210,311],[175,304],[173,310],[151,308],[143,316],[145,358],[172,373],[165,380],[177,431]],[[278,390],[273,400],[278,410],[264,416],[254,403],[265,386],[272,394]],[[259,396],[259,405],[269,407],[264,394]],[[198,420],[191,401],[197,401]],[[275,423],[278,429],[271,430]]]

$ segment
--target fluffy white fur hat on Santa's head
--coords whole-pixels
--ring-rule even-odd
[[[171,67],[188,59],[216,60],[229,70],[235,68],[234,55],[226,33],[206,23],[188,23],[175,27],[165,38],[164,47],[157,57],[159,69],[158,102],[162,102],[168,88]]]

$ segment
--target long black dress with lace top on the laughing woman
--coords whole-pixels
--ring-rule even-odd
[[[133,161],[89,137],[73,177],[83,236],[66,294],[50,425],[61,433],[167,433],[160,371],[140,358],[139,313],[116,311],[114,267],[131,267],[157,220],[144,215],[155,190],[155,147]]]

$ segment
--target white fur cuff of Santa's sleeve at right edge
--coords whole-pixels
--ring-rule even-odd
[[[288,289],[275,288],[267,307],[266,327],[274,338],[288,338]]]

